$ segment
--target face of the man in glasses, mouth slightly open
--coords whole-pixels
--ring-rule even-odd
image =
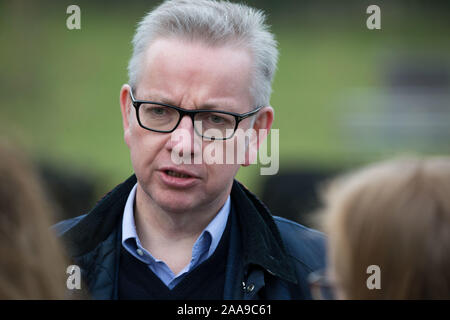
[[[250,95],[251,56],[235,47],[209,47],[198,42],[159,39],[153,42],[143,59],[141,78],[134,95],[138,100],[163,102],[185,109],[217,109],[236,113],[255,106]],[[171,139],[171,133],[159,133],[139,126],[125,85],[121,92],[125,141],[142,194],[152,205],[169,212],[205,210],[223,204],[240,164],[180,164],[171,159],[174,148],[199,155],[209,144],[194,139],[190,117],[185,116],[176,130],[187,130],[192,139]],[[272,109],[264,108],[257,124],[270,126]],[[248,129],[252,117],[239,128]],[[262,121],[262,122],[261,122]],[[225,143],[231,143],[226,140]],[[183,144],[183,145],[180,145]],[[174,177],[172,172],[184,173]]]

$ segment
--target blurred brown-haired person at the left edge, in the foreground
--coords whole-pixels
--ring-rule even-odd
[[[63,247],[52,206],[27,157],[0,143],[0,299],[63,299]]]

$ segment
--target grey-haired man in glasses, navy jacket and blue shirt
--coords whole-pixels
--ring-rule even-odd
[[[264,138],[236,147],[237,129],[264,133],[273,121],[277,49],[264,19],[239,4],[179,0],[139,24],[120,92],[135,175],[56,226],[92,298],[310,298],[322,235],[272,217],[234,180]],[[219,146],[244,161],[205,161]]]

